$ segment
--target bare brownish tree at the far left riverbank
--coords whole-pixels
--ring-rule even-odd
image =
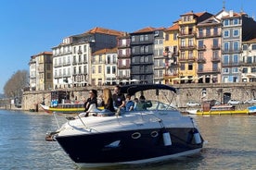
[[[7,80],[4,92],[6,97],[21,98],[23,89],[29,84],[29,72],[27,70],[18,70]]]

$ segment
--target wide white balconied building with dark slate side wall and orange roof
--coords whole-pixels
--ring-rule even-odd
[[[120,35],[121,31],[96,27],[70,36],[53,47],[54,88],[84,87],[96,83],[92,82],[92,54],[116,47],[116,39]]]

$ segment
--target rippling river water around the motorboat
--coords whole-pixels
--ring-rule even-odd
[[[94,169],[256,169],[255,115],[194,118],[208,141],[197,155],[158,164]],[[56,128],[53,115],[0,110],[0,169],[80,169],[57,142],[45,141],[45,133]]]

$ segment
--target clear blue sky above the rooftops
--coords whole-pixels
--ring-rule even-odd
[[[189,11],[243,10],[256,17],[255,0],[7,0],[0,5],[0,93],[32,55],[51,52],[63,38],[95,27],[134,32],[165,27]]]

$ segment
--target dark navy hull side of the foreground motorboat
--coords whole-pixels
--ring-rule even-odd
[[[193,140],[192,128],[164,129],[172,145],[165,146],[163,129],[144,129],[57,137],[58,143],[75,163],[99,164],[146,160],[202,148]]]

